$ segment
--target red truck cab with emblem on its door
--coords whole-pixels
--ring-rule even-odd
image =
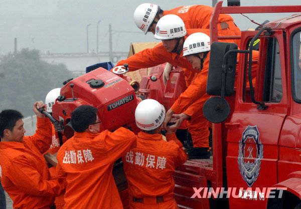
[[[301,12],[300,6],[222,8],[221,3],[215,7],[212,24],[215,15],[222,13]],[[217,37],[212,25],[211,41],[218,39],[226,37]],[[213,124],[217,187],[227,188],[229,208],[299,208],[301,14],[269,22],[260,31],[243,31],[240,40],[234,93],[224,97],[218,93],[222,86],[211,93],[225,98],[230,108],[224,121]],[[252,62],[255,41],[259,56]],[[211,57],[225,55],[215,52]],[[255,70],[249,68],[251,64],[257,65]],[[221,69],[209,67],[209,77]],[[210,85],[208,80],[207,90]]]

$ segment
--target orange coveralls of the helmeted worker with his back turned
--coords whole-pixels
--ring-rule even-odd
[[[137,147],[122,157],[130,208],[178,208],[172,174],[186,159],[176,134],[167,134],[166,142],[161,134],[139,132]]]

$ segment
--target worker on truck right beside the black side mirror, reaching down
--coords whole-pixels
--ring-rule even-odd
[[[167,112],[164,127],[172,117],[177,117],[182,123],[187,119],[189,132],[192,134],[194,148],[188,150],[189,158],[198,158],[200,155],[209,157],[208,136],[199,135],[200,127],[209,127],[209,122],[203,115],[203,105],[209,99],[206,93],[208,68],[210,60],[210,37],[204,33],[194,33],[190,35],[183,45],[183,57],[192,64],[193,68],[202,72],[198,73],[192,80],[189,87],[183,92],[171,109]],[[191,98],[198,98],[196,101]],[[178,113],[174,115],[174,113]],[[208,134],[208,133],[207,133]],[[196,140],[197,139],[197,140]],[[197,142],[196,142],[197,141]]]

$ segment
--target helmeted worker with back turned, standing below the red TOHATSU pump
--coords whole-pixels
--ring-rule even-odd
[[[176,209],[174,198],[175,168],[187,159],[182,143],[173,127],[167,128],[165,141],[161,135],[165,108],[158,101],[145,99],[135,110],[137,147],[122,157],[128,183],[129,208]]]

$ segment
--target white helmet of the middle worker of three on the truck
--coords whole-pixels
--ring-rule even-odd
[[[176,15],[166,15],[160,18],[156,27],[155,39],[177,39],[186,35],[183,20]]]

